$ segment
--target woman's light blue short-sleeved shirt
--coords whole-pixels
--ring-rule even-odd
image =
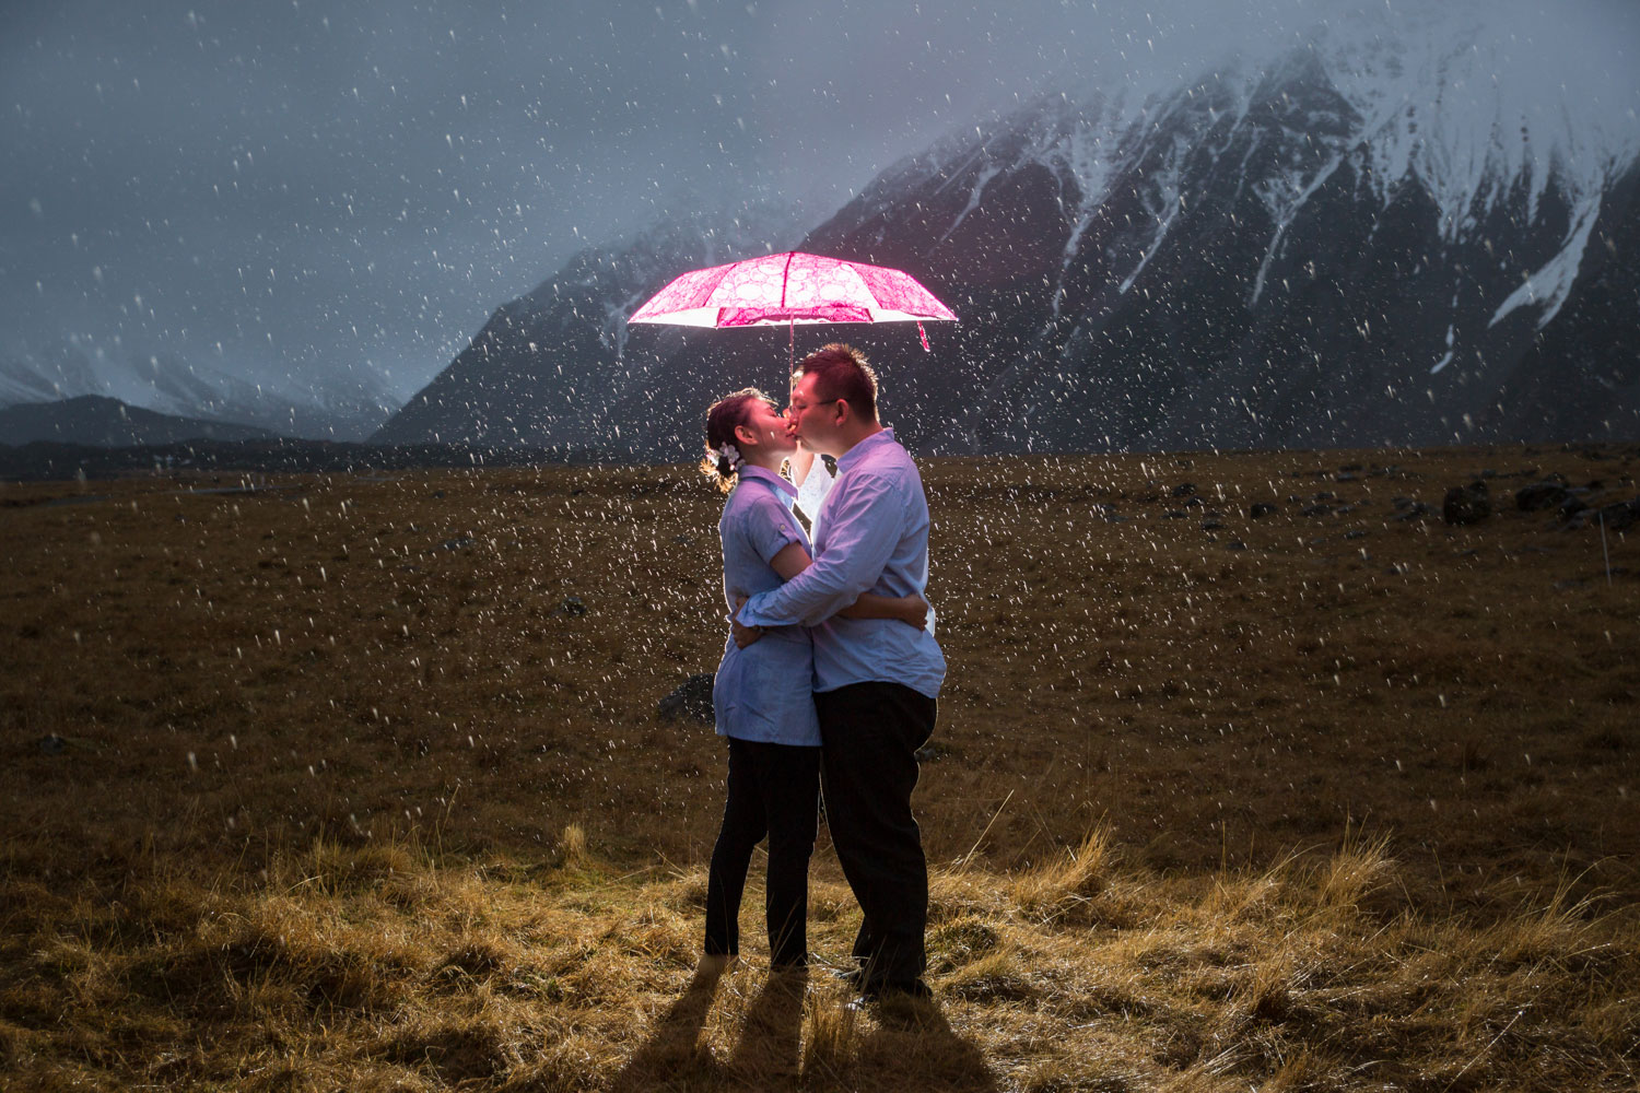
[[[723,503],[723,600],[735,611],[736,596],[781,587],[769,560],[795,542],[809,554],[809,536],[792,516],[797,490],[763,467],[741,467],[740,482]],[[717,731],[764,744],[820,746],[813,701],[813,644],[802,626],[777,626],[745,649],[730,639],[712,685]]]

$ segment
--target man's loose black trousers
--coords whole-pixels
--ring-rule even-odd
[[[815,695],[827,828],[864,918],[854,960],[864,986],[910,983],[927,967],[928,862],[912,816],[917,749],[938,703],[900,683]]]

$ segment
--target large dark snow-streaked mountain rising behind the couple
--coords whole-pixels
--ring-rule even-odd
[[[884,172],[797,249],[963,318],[799,331],[879,364],[925,452],[1640,436],[1637,126],[1494,79],[1484,15],[1360,16],[1166,93],[1066,88]],[[774,246],[771,246],[774,244]],[[790,246],[659,229],[502,306],[376,439],[677,459],[786,336],[625,329],[684,269]]]

